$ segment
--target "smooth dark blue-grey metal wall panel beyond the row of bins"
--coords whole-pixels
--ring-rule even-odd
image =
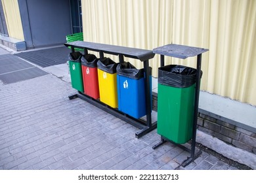
[[[62,44],[72,33],[69,0],[19,0],[19,6],[28,48]]]

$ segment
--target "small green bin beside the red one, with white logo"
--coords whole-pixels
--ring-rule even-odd
[[[71,84],[72,87],[78,90],[79,92],[83,92],[81,57],[82,54],[80,52],[72,52],[68,54],[68,65],[70,67]]]

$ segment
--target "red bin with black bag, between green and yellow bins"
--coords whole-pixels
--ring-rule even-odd
[[[98,70],[95,55],[87,54],[81,58],[82,73],[83,73],[83,88],[85,94],[94,99],[100,98],[98,89]]]

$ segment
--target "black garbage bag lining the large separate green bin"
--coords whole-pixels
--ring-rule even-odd
[[[200,72],[200,78],[203,72]],[[158,68],[158,82],[175,88],[186,88],[196,83],[196,69],[183,65],[166,65]]]

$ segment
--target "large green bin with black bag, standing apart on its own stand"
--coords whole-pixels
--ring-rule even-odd
[[[202,71],[201,71],[202,76]],[[196,69],[158,68],[158,134],[177,144],[192,139]]]

